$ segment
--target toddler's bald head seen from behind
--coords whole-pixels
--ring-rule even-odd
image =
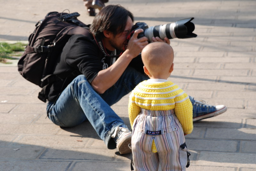
[[[168,72],[173,63],[173,49],[165,42],[149,43],[141,52],[142,62],[151,74]]]

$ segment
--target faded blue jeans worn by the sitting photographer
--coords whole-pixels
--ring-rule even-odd
[[[131,92],[141,81],[148,79],[145,74],[128,67],[119,80],[105,93],[94,91],[84,75],[77,76],[60,94],[54,103],[49,101],[49,119],[61,127],[73,127],[88,120],[109,149],[116,148],[111,135],[124,121],[110,108],[124,95]]]

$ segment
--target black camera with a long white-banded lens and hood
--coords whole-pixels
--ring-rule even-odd
[[[132,34],[137,29],[143,29],[144,32],[138,34],[138,38],[146,36],[148,42],[152,41],[152,37],[160,37],[164,40],[165,37],[168,39],[179,38],[186,39],[196,37],[195,33],[192,33],[195,30],[194,23],[191,22],[194,18],[181,19],[175,23],[169,23],[158,26],[151,26],[148,28],[148,25],[144,22],[138,22],[132,27],[132,32],[128,36],[130,39]]]

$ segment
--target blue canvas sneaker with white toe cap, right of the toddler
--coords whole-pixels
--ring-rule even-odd
[[[193,105],[193,122],[220,115],[226,112],[228,109],[224,105],[217,105],[217,106],[207,105],[206,101],[194,100],[194,98],[191,96],[189,96],[189,99]]]

